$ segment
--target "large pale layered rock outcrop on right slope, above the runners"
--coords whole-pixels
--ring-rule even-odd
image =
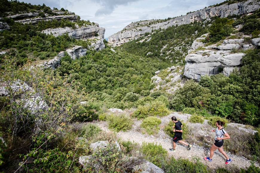
[[[233,69],[239,70],[241,58],[245,55],[244,53],[232,53],[232,50],[254,48],[252,44],[244,44],[243,38],[224,40],[219,46],[207,47],[203,47],[203,43],[198,40],[193,42],[192,50],[188,51],[184,67],[184,75],[196,81],[200,81],[202,75],[223,73],[229,76]]]

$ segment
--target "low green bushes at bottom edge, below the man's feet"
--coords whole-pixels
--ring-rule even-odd
[[[207,166],[205,166],[200,158],[192,157],[192,161],[188,159],[175,159],[170,157],[169,160],[164,160],[161,168],[164,172],[172,173],[207,173]]]

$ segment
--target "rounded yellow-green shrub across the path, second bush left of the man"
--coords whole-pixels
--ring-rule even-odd
[[[149,135],[157,134],[160,130],[159,124],[161,123],[161,119],[157,117],[147,117],[143,120],[140,126],[146,129],[146,132]]]

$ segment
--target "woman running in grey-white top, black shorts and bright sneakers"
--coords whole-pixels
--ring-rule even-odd
[[[223,128],[224,124],[225,123],[220,121],[220,120],[216,121],[216,126],[217,126],[216,130],[211,131],[211,132],[216,132],[215,143],[210,148],[209,157],[204,157],[204,160],[212,162],[212,157],[213,157],[214,151],[216,149],[218,149],[218,151],[221,152],[227,159],[225,164],[229,164],[230,162],[232,162],[232,159],[230,159],[227,156],[226,152],[224,152],[224,150],[223,150],[223,143],[224,143],[223,139],[229,139],[230,138],[230,136],[227,134],[227,132]],[[223,137],[223,135],[225,135],[225,137]]]

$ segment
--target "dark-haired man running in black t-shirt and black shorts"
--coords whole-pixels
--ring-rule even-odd
[[[187,144],[186,142],[182,141],[182,123],[181,121],[177,121],[177,118],[176,117],[172,117],[172,122],[175,123],[175,126],[173,126],[173,132],[175,132],[175,135],[173,137],[173,140],[172,140],[172,145],[173,145],[173,148],[170,148],[169,150],[172,151],[172,152],[176,152],[175,150],[175,147],[176,147],[176,142],[179,142],[179,143],[182,143],[183,145],[186,145],[188,146],[188,150],[191,149],[191,145],[190,144]],[[175,129],[174,129],[175,128]]]

